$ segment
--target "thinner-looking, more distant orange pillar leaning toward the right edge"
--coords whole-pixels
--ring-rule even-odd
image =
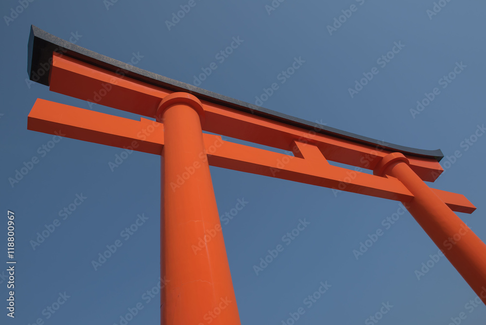
[[[385,156],[375,175],[399,179],[414,198],[410,214],[486,305],[486,245],[409,167],[401,153]]]

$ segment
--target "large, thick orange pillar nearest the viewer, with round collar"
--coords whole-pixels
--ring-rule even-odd
[[[162,325],[240,325],[201,121],[191,94],[166,96],[161,161]]]

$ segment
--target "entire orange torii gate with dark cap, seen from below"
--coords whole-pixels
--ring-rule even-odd
[[[134,121],[37,99],[28,129],[161,155],[161,324],[239,325],[209,165],[403,202],[486,304],[486,245],[452,211],[476,208],[463,195],[430,188],[443,171],[440,150],[419,150],[311,124],[127,65],[32,26],[30,80],[75,98],[156,118]],[[242,139],[294,156],[223,141]],[[330,165],[367,168],[374,175]]]

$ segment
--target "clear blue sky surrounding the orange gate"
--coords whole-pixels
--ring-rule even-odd
[[[442,0],[446,5],[432,15],[432,0],[288,0],[276,10],[265,8],[270,0],[195,0],[170,30],[165,21],[189,1],[25,2],[17,16],[11,8],[18,0],[0,5],[1,16],[14,17],[0,23],[0,243],[6,247],[10,209],[17,244],[17,317],[5,315],[6,281],[0,278],[1,324],[39,318],[48,325],[120,324],[138,303],[143,309],[128,324],[159,322],[160,295],[149,301],[146,291],[159,279],[160,157],[133,152],[112,171],[108,163],[120,148],[68,138],[54,143],[52,135],[27,130],[36,98],[138,118],[27,85],[31,24],[66,40],[77,35],[76,44],[123,62],[136,54],[139,68],[186,83],[215,62],[218,68],[201,88],[255,103],[277,82],[263,107],[390,143],[440,148],[446,156],[458,150],[461,157],[432,186],[469,198],[477,211],[458,215],[486,240],[486,136],[472,146],[463,143],[486,123],[484,2]],[[342,10],[352,15],[330,30]],[[216,55],[233,37],[243,41],[222,61]],[[398,53],[388,62],[380,59],[395,43]],[[278,74],[295,57],[305,62],[282,84]],[[440,80],[461,62],[454,80]],[[355,80],[373,68],[378,73],[351,96]],[[440,93],[412,116],[410,109],[434,88]],[[39,162],[11,186],[8,179],[34,156]],[[398,202],[335,196],[327,188],[221,168],[211,167],[211,174],[221,215],[239,199],[248,202],[223,222],[242,324],[292,324],[289,313],[300,307],[305,313],[297,325],[376,324],[369,317],[387,304],[393,307],[382,308],[381,325],[447,325],[461,312],[462,324],[484,324],[485,306],[469,304],[476,296],[451,264],[444,257],[429,261],[438,249],[417,222],[408,213],[393,225],[382,222],[398,211]],[[63,219],[59,211],[69,205],[75,210]],[[123,232],[138,215],[146,218],[141,226],[132,235]],[[34,250],[36,234],[55,219],[60,225]],[[310,225],[283,241],[300,219]],[[356,259],[353,250],[378,229],[383,235]],[[122,246],[95,271],[92,260],[116,240]],[[253,266],[278,244],[283,252],[257,275]],[[6,259],[2,255],[0,263]],[[417,279],[416,270],[428,261],[432,268]],[[312,304],[306,300],[326,281],[326,293]],[[69,298],[60,297],[64,293]],[[46,308],[58,307],[58,299],[66,302],[51,313]]]

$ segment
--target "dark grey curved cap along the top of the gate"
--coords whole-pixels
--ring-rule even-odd
[[[53,36],[40,28],[35,27],[34,25],[31,26],[28,51],[27,72],[30,80],[46,86],[49,86],[49,70],[51,69],[50,62],[52,60],[52,52],[55,51],[111,72],[122,72],[124,75],[130,78],[156,87],[171,91],[189,92],[201,100],[245,113],[250,113],[289,126],[296,126],[304,130],[313,130],[316,133],[333,136],[335,138],[351,141],[356,144],[364,144],[391,152],[401,152],[407,156],[435,159],[437,162],[440,162],[440,160],[444,158],[444,155],[440,149],[423,150],[397,144],[383,143],[375,139],[349,133],[333,127],[312,123],[294,116],[282,114],[274,110],[242,102],[240,100],[204,90],[153,72],[148,72],[110,57],[87,50],[81,46],[72,44],[59,37]]]

